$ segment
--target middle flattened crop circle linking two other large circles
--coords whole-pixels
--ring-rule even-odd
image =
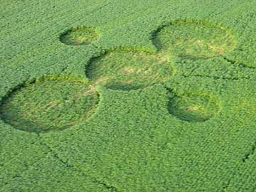
[[[115,50],[92,58],[86,68],[92,85],[113,90],[136,90],[164,82],[173,69],[168,56],[139,50]]]

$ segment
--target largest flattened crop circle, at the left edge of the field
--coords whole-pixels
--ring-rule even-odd
[[[71,127],[95,112],[97,92],[83,82],[45,80],[21,87],[1,103],[1,118],[16,129],[49,132]]]

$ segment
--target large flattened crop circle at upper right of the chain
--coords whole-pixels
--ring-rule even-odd
[[[154,44],[181,58],[211,58],[235,48],[234,36],[222,26],[176,21],[156,33]]]

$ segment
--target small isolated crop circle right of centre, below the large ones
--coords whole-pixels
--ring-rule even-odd
[[[184,94],[171,97],[169,113],[187,122],[205,122],[218,112],[218,105],[206,95]]]

